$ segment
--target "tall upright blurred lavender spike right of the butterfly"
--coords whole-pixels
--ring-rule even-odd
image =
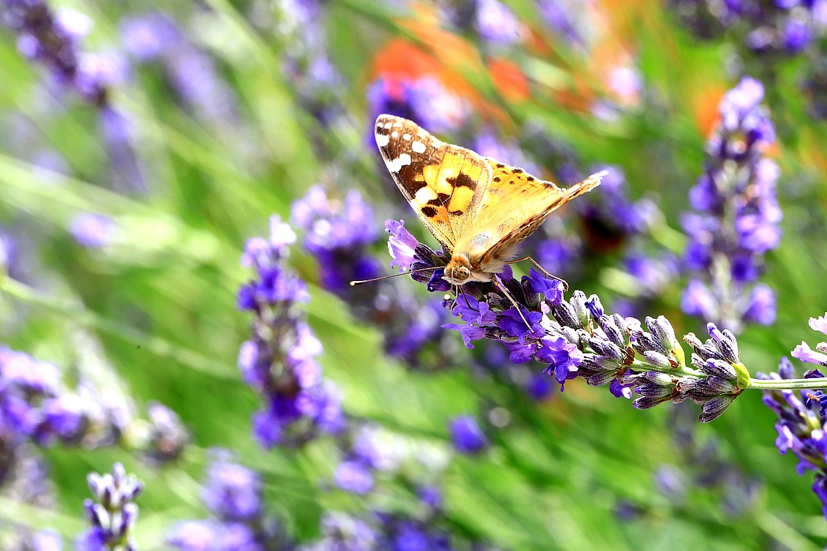
[[[690,192],[696,212],[683,219],[693,272],[682,307],[688,314],[739,328],[775,319],[772,291],[754,283],[767,251],[781,239],[775,195],[778,167],[763,156],[775,140],[760,107],[762,84],[743,78],[720,104],[721,121],[706,144],[705,171]]]

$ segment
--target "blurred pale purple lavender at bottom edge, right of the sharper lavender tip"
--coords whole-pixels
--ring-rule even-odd
[[[213,518],[177,523],[167,544],[180,551],[294,549],[280,523],[266,515],[259,475],[232,462],[227,450],[212,451],[203,500]]]

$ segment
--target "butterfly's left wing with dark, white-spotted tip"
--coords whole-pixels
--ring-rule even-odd
[[[399,191],[443,248],[452,251],[485,197],[491,164],[400,116],[380,115],[375,137]]]

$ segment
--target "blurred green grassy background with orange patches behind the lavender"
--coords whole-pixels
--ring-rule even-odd
[[[245,240],[267,235],[271,214],[289,221],[291,202],[316,183],[336,197],[361,190],[379,229],[385,218],[404,216],[435,245],[400,201],[371,143],[368,90],[383,75],[434,75],[466,103],[466,129],[495,128],[525,151],[537,148],[535,166],[549,178],[557,167],[543,159],[543,143],[525,137],[529,126],[575,152],[583,170],[619,166],[629,197],[649,197],[663,212],[653,242],[681,253],[680,216],[689,209],[687,192],[700,174],[719,99],[739,80],[737,47],[696,40],[659,2],[572,2],[569,13],[588,37],[582,44],[549,29],[533,2],[507,5],[521,38],[491,45],[446,26],[426,2],[333,0],[311,26],[291,20],[287,2],[50,2],[88,17],[79,48],[121,59],[107,69],[122,72],[112,77],[108,102],[129,130],[114,147],[101,109],[50,83],[49,69],[21,55],[15,33],[0,29],[0,228],[14,244],[13,279],[0,293],[2,342],[55,363],[69,385],[89,378],[101,396],[134,401],[139,416],[147,402],[160,401],[192,433],[182,458],[164,468],[141,462],[128,438],[98,449],[44,447],[38,454],[54,503],[26,504],[0,492],[2,530],[51,527],[70,546],[84,530],[86,473],[121,461],[146,483],[136,540],[141,549],[163,549],[175,520],[206,515],[200,484],[212,447],[231,449],[261,473],[268,511],[300,542],[318,537],[323,511],[362,511],[362,498],[332,489],[339,453],[329,439],[300,450],[262,450],[253,439],[250,416],[260,398],[236,367],[250,320],[235,298],[251,278],[238,262]],[[175,47],[198,52],[211,69],[176,77],[174,65],[128,51],[125,25],[151,12],[174,21],[183,36]],[[327,87],[308,82],[304,68],[289,61],[302,59],[310,40],[340,75]],[[762,278],[777,292],[777,320],[739,333],[753,374],[774,371],[782,355],[812,341],[806,320],[827,309],[827,124],[810,116],[799,89],[807,63],[773,59],[772,71],[753,74],[772,76],[764,80],[765,103],[777,128],[770,154],[782,169],[785,215],[782,244]],[[617,67],[633,69],[638,90],[623,95],[609,86]],[[187,96],[176,78],[190,78],[198,92]],[[598,100],[614,114],[595,116]],[[319,116],[330,106],[332,119]],[[437,135],[474,145],[470,134]],[[124,162],[124,151],[134,158]],[[114,222],[106,245],[73,239],[71,223],[86,212]],[[577,233],[574,216],[562,220]],[[512,382],[469,368],[472,353],[459,335],[449,335],[457,344],[449,368],[407,369],[383,352],[381,328],[356,321],[341,298],[318,286],[313,257],[293,249],[289,264],[308,282],[308,321],[324,346],[324,375],[340,388],[345,411],[442,447],[452,416],[508,411],[509,422],[491,429],[486,454],[453,458],[447,467],[447,519],[459,533],[503,549],[823,546],[827,525],[810,477],[799,477],[796,458],[774,447],[774,416],[758,392],[745,392],[714,423],[687,429],[691,448],[714,446],[722,463],[712,468],[732,469],[736,481],[705,486],[698,473],[717,463],[676,444],[676,424],[694,419],[694,406],[688,413],[671,404],[638,411],[581,380],[532,401]],[[375,254],[383,265],[389,261],[381,240]],[[636,296],[618,261],[610,252],[560,275],[572,288],[600,294],[611,309],[614,299]],[[663,314],[678,335],[700,334],[702,321],[681,314],[683,283],[670,281],[641,315]],[[663,491],[662,473],[680,481],[680,497]],[[753,480],[754,496],[729,513],[722,503],[737,501],[734,487]],[[376,492],[383,502],[408,498],[394,481]]]

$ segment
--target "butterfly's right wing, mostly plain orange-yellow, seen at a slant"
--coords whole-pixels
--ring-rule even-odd
[[[548,215],[566,202],[600,185],[602,173],[586,178],[570,188],[535,178],[523,169],[486,158],[491,168],[491,183],[482,197],[474,224],[466,240],[457,244],[465,250],[471,265],[480,271],[496,273],[514,259],[520,243],[543,223]]]

